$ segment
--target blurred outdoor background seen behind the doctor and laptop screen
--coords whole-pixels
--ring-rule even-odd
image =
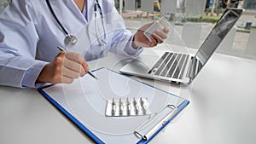
[[[113,0],[126,27],[135,32],[143,24],[166,17],[172,27],[165,43],[198,49],[226,8],[242,8],[236,26],[217,52],[256,60],[256,0]],[[0,0],[0,13],[9,0]],[[1,21],[0,21],[1,22]]]

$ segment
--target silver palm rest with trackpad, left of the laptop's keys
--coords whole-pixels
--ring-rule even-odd
[[[147,74],[148,71],[154,66],[154,63],[159,59],[159,56],[153,55],[140,55],[137,59],[131,60],[127,65],[120,69],[120,72],[124,73],[141,73]]]

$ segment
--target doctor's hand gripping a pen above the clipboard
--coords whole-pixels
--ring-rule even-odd
[[[55,60],[44,66],[37,83],[71,84],[75,78],[83,77],[89,71],[82,55],[61,51]]]

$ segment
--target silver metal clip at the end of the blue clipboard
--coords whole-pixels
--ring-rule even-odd
[[[134,130],[134,134],[142,138],[144,141],[147,141],[157,130],[166,124],[167,121],[172,118],[172,116],[177,112],[177,107],[174,105],[167,105],[159,112],[155,112],[148,119],[141,124],[136,130]]]

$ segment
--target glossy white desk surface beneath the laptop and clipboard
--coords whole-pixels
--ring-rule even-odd
[[[90,69],[118,70],[127,61],[108,55],[89,65]],[[215,54],[190,85],[192,89],[140,79],[190,101],[150,143],[255,143],[255,60]],[[36,89],[0,87],[0,126],[0,143],[4,144],[92,143]]]

